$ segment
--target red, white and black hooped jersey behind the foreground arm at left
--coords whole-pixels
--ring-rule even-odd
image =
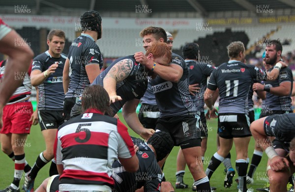
[[[3,75],[5,73],[6,62],[7,60],[0,61],[0,81],[2,80]],[[14,93],[9,98],[9,101],[6,105],[14,104],[30,97],[31,89],[32,89],[32,84],[30,82],[31,66],[29,67],[28,72],[25,72],[25,74],[21,74],[21,73],[22,72],[14,72],[14,80],[23,81],[23,83],[14,91]]]

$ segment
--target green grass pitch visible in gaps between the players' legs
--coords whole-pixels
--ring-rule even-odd
[[[125,123],[121,114],[119,114],[120,120]],[[211,119],[207,122],[208,126],[208,142],[207,142],[207,152],[205,154],[204,161],[204,169],[207,168],[211,156],[216,152],[216,130],[217,130],[217,120]],[[129,129],[129,134],[131,136],[138,137],[131,129]],[[253,150],[254,150],[254,139],[251,138],[251,142],[249,145],[248,155],[250,157],[250,161],[252,158]],[[29,165],[33,165],[37,156],[41,151],[45,149],[44,139],[41,134],[41,130],[39,125],[31,127],[31,134],[28,136],[27,144],[25,145],[25,153],[26,160],[29,162]],[[176,172],[176,157],[179,147],[174,147],[171,154],[169,155],[166,165],[164,167],[165,177],[168,181],[170,181],[173,185],[175,185],[175,172]],[[236,151],[233,147],[232,151],[232,164],[235,167],[236,160]],[[260,188],[266,184],[266,162],[267,156],[264,154],[262,162],[258,166],[256,172],[254,173],[254,184],[248,185],[248,188]],[[50,164],[43,167],[35,180],[35,189],[41,184],[41,182],[48,176]],[[13,180],[14,174],[14,163],[11,161],[7,155],[3,152],[0,152],[0,190],[6,188]],[[218,167],[218,169],[214,172],[213,176],[210,179],[210,185],[217,188],[217,192],[237,192],[236,183],[234,181],[233,186],[229,189],[225,189],[223,187],[224,181],[224,166],[223,164]],[[234,179],[237,178],[237,173]],[[176,192],[191,192],[191,186],[193,184],[193,178],[190,175],[190,172],[186,166],[186,172],[184,175],[184,182],[189,185],[188,189],[177,189]],[[22,177],[21,186],[24,183],[24,177]]]

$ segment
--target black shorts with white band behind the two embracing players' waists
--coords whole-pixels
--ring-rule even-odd
[[[159,115],[158,106],[142,104],[139,109],[138,118],[145,128],[155,129]]]

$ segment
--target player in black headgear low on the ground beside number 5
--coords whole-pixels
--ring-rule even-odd
[[[131,138],[139,147],[136,152],[139,169],[130,173],[125,171],[119,161],[115,161],[112,165],[115,192],[135,192],[142,187],[148,192],[174,192],[171,183],[162,180],[162,171],[157,164],[157,161],[166,157],[173,148],[170,135],[166,132],[158,132],[153,134],[147,142],[140,138]],[[50,189],[50,192],[58,191],[59,176],[45,179],[35,192],[49,192],[46,189]]]

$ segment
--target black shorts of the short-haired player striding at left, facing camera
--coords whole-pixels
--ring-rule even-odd
[[[64,123],[62,110],[38,110],[41,131],[47,129],[58,129]]]

